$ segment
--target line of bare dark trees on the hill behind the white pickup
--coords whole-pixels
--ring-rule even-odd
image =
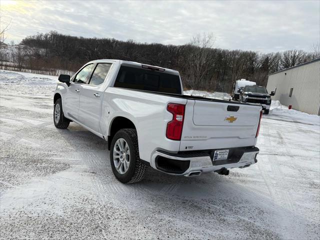
[[[234,80],[246,78],[266,85],[269,73],[319,57],[318,46],[311,52],[292,49],[271,53],[216,48],[212,34],[196,35],[184,45],[163,45],[50,31],[22,39],[12,51],[11,61],[20,69],[70,72],[94,59],[137,61],[178,70],[185,89],[231,92]],[[0,60],[5,60],[1,58],[3,54]]]

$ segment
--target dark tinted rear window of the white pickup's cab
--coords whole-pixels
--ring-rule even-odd
[[[181,94],[178,75],[129,66],[120,66],[114,86]]]

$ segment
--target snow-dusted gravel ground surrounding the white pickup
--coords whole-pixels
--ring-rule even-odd
[[[112,174],[106,142],[53,125],[57,77],[0,71],[1,239],[319,239],[319,117],[273,102],[258,162],[177,177]]]

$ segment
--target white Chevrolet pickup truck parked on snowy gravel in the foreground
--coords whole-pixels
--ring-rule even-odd
[[[183,95],[178,71],[105,59],[58,79],[54,125],[74,121],[107,140],[123,183],[140,181],[148,165],[174,175],[227,175],[257,161],[261,106]]]

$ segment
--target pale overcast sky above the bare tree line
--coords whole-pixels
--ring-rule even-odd
[[[56,30],[85,37],[184,44],[212,32],[215,47],[310,50],[320,38],[320,0],[301,1],[6,1],[6,42]]]

